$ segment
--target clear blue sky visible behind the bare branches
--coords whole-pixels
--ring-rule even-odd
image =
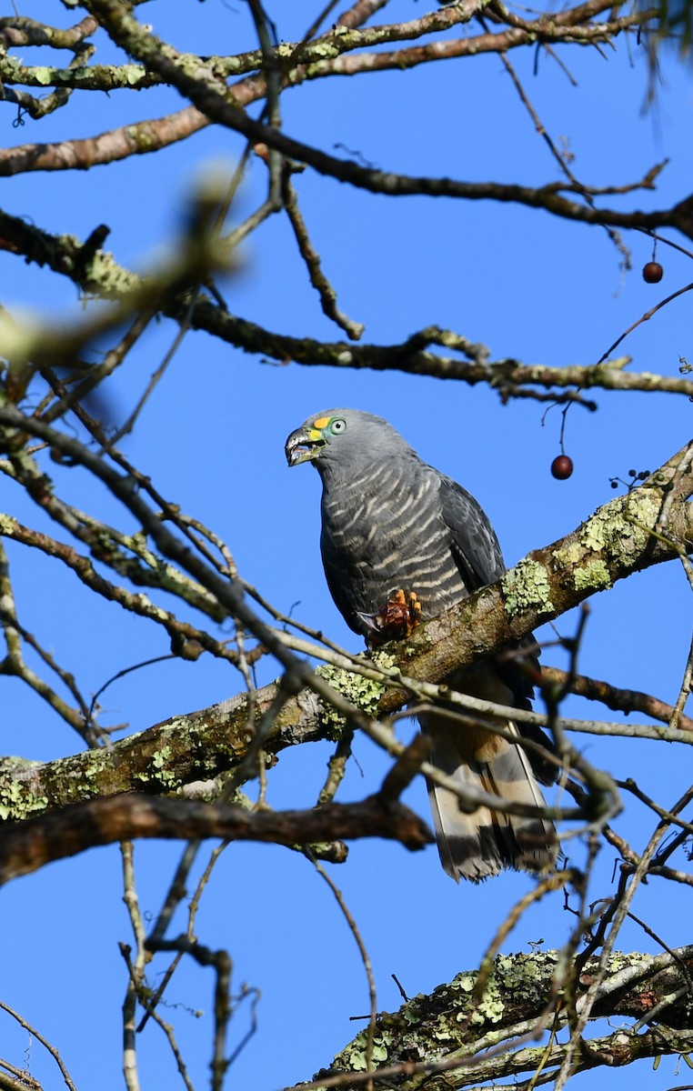
[[[306,29],[318,7],[307,0],[267,2],[286,40]],[[393,0],[385,17],[414,19],[425,10],[422,0]],[[26,14],[59,25],[70,22],[57,0],[36,0]],[[253,45],[240,0],[153,3],[140,14],[179,48],[227,53]],[[27,62],[45,62],[36,50],[23,56]],[[104,43],[99,59],[113,56]],[[686,196],[693,157],[690,70],[665,53],[665,82],[654,106],[644,109],[647,67],[644,50],[635,44],[629,48],[621,41],[606,56],[577,47],[560,56],[577,87],[549,57],[540,58],[537,75],[533,53],[516,51],[511,59],[554,141],[570,140],[577,176],[588,184],[624,184],[670,157],[656,193],[607,200],[613,206],[654,208]],[[85,136],[179,107],[176,95],[158,89],[74,96],[51,117],[13,128],[14,109],[8,105],[3,141],[11,146]],[[422,65],[406,74],[315,81],[287,92],[283,115],[290,135],[326,151],[343,144],[395,171],[530,184],[557,178],[555,164],[495,57]],[[106,221],[111,228],[107,245],[117,260],[143,268],[180,229],[195,179],[212,161],[232,169],[241,151],[236,134],[208,129],[155,156],[107,169],[5,179],[2,207],[47,230],[81,238]],[[557,221],[540,212],[425,197],[386,201],[311,170],[295,184],[339,304],[366,324],[367,341],[398,343],[437,324],[483,341],[493,359],[587,364],[645,310],[692,279],[689,257],[660,247],[665,279],[659,286],[645,285],[640,268],[650,257],[652,243],[643,236],[625,238],[634,267],[623,274],[604,230]],[[264,167],[255,163],[235,209],[238,219],[261,202],[264,185]],[[11,310],[29,308],[62,317],[80,312],[73,286],[45,269],[3,253],[0,276],[1,301]],[[280,217],[250,237],[240,271],[220,286],[234,313],[270,329],[330,340],[343,336],[322,315]],[[175,334],[168,322],[151,329],[115,376],[115,420],[130,411]],[[679,357],[693,360],[688,297],[642,325],[619,351],[631,355],[631,367],[638,371],[676,374]],[[625,478],[630,468],[655,468],[690,436],[691,406],[682,397],[598,393],[597,400],[596,413],[580,407],[569,413],[565,445],[575,472],[569,481],[557,482],[549,473],[559,453],[557,409],[542,423],[545,407],[528,400],[503,407],[486,388],[443,385],[397,372],[277,365],[205,334],[189,334],[122,446],[164,495],[228,542],[243,577],[277,608],[288,611],[298,603],[298,619],[357,650],[358,638],[337,614],[322,575],[319,480],[311,467],[287,471],[288,432],[309,413],[338,405],[386,417],[422,457],[479,499],[507,563],[514,563],[529,549],[562,537],[609,500],[610,477]],[[53,465],[51,470],[75,503],[119,517],[115,504],[81,471]],[[3,511],[46,526],[4,478],[0,495]],[[20,549],[9,548],[9,553],[20,619],[74,671],[86,693],[98,690],[117,670],[167,652],[163,633],[147,630],[115,606],[91,603],[68,573]],[[669,565],[595,599],[582,669],[673,700],[690,638],[688,595],[682,568]],[[574,625],[575,619],[562,619],[559,628],[570,634]],[[551,633],[545,637],[550,639]],[[553,649],[545,658],[562,664]],[[273,664],[263,663],[260,681],[275,672]],[[241,687],[228,667],[208,657],[194,664],[171,660],[115,683],[101,702],[103,720],[126,720],[129,730],[141,730]],[[19,682],[3,679],[3,752],[48,760],[79,750],[77,736]],[[588,716],[589,709],[572,700],[566,712]],[[405,723],[402,730],[408,738],[414,728]],[[673,746],[592,736],[581,739],[580,745],[592,762],[617,777],[634,777],[664,805],[672,804],[688,784],[685,757]],[[377,787],[385,768],[367,740],[357,740],[355,753],[358,765],[349,771],[345,800]],[[270,777],[270,803],[310,805],[328,754],[326,744],[285,753]],[[421,784],[411,788],[408,801],[428,814]],[[643,808],[630,803],[617,824],[636,850],[652,826]],[[179,851],[174,844],[136,847],[140,897],[150,914],[158,910]],[[582,843],[570,851],[582,863]],[[96,1079],[105,1091],[122,1086],[119,1017],[126,976],[118,942],[131,937],[119,867],[116,849],[92,852],[3,891],[4,930],[11,942],[5,945],[0,999],[60,1047],[80,1089]],[[595,899],[613,891],[612,867],[613,856],[605,849]],[[331,874],[373,959],[381,1009],[399,1003],[391,973],[414,995],[476,967],[494,927],[531,885],[527,877],[504,875],[481,887],[457,888],[440,870],[434,849],[410,855],[378,842],[355,844],[348,864]],[[685,913],[671,912],[671,891],[657,880],[641,889],[635,912],[669,945],[689,938]],[[539,939],[547,947],[558,946],[572,923],[557,895],[523,918],[504,949],[526,950]],[[271,1091],[308,1079],[360,1028],[349,1020],[368,1010],[368,994],[353,937],[325,884],[297,854],[272,847],[229,847],[203,899],[198,934],[211,947],[228,948],[237,993],[242,983],[262,993],[259,1030],[237,1060],[229,1087]],[[657,950],[635,924],[623,930],[620,946]],[[154,974],[164,964],[156,963]],[[211,975],[184,967],[168,998],[180,1007],[166,1017],[176,1024],[196,1086],[204,1086]],[[196,1018],[186,1008],[205,1015]],[[236,1041],[247,1027],[244,1002],[234,1022]],[[28,1051],[32,1072],[46,1088],[59,1086],[50,1058],[2,1012],[0,1042],[0,1055],[21,1066]],[[143,1087],[178,1079],[152,1026],[143,1035],[140,1059]],[[610,1072],[610,1086],[628,1081],[632,1087],[633,1080],[644,1082],[648,1075],[645,1065]],[[662,1062],[659,1078],[666,1086],[677,1082],[674,1060]],[[596,1087],[600,1077],[578,1079],[587,1088]]]

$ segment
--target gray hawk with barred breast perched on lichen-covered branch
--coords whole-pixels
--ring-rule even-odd
[[[357,409],[309,417],[286,442],[289,466],[312,461],[322,479],[322,560],[332,597],[346,623],[371,640],[419,615],[449,610],[503,574],[493,528],[476,500],[422,461],[387,421]],[[404,592],[404,594],[402,594]],[[402,632],[402,630],[401,630]],[[526,655],[536,652],[534,642]],[[515,708],[528,708],[531,688],[515,662],[483,662],[446,679],[454,690]],[[426,714],[431,762],[461,787],[505,800],[543,805],[537,783],[552,783],[555,767],[534,752],[482,727],[455,726]],[[509,722],[507,728],[517,733]],[[522,733],[550,743],[538,729]],[[455,880],[477,882],[502,867],[542,871],[555,862],[555,831],[542,818],[480,807],[429,782],[440,858]]]

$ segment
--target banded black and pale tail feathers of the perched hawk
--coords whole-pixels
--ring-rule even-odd
[[[506,727],[516,731],[513,723]],[[459,736],[464,729],[451,729],[450,721],[437,724],[433,715],[426,717],[422,728],[431,739],[431,763],[461,788],[471,787],[503,800],[545,806],[541,789],[521,746],[504,742],[500,752],[480,762],[461,754]],[[456,882],[459,878],[479,882],[498,875],[503,867],[541,872],[555,863],[558,842],[549,819],[526,818],[489,807],[467,814],[454,792],[432,781],[428,787],[441,863]]]

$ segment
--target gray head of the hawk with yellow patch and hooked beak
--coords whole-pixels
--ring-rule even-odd
[[[384,456],[413,454],[411,447],[382,417],[360,409],[324,409],[309,417],[286,441],[289,466],[312,461],[327,468],[372,463]]]

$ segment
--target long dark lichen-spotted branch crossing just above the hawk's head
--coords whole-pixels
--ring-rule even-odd
[[[16,216],[0,211],[0,247],[23,254],[27,262],[48,266],[53,273],[68,276],[77,287],[105,299],[123,302],[123,313],[110,319],[99,317],[98,331],[93,328],[91,316],[68,329],[50,328],[26,331],[25,356],[31,349],[47,362],[74,357],[86,340],[103,333],[104,324],[116,324],[126,316],[126,304],[141,307],[144,297],[151,302],[156,296],[162,313],[177,322],[186,322],[192,329],[202,329],[235,345],[246,352],[307,365],[321,364],[333,368],[373,371],[401,371],[405,374],[429,375],[435,379],[457,380],[475,386],[487,383],[499,392],[501,398],[516,396],[524,387],[538,386],[546,391],[577,387],[605,391],[645,391],[682,394],[693,397],[693,380],[680,375],[658,375],[649,372],[624,370],[626,358],[600,364],[572,364],[552,368],[545,364],[523,364],[517,360],[488,360],[488,349],[450,329],[428,326],[411,334],[398,345],[354,345],[350,341],[319,341],[311,337],[291,337],[265,329],[246,319],[229,314],[204,295],[191,300],[189,292],[163,292],[156,280],[143,280],[119,265],[112,254],[103,250],[94,252],[87,243],[74,236],[51,235],[27,224]],[[5,334],[7,336],[7,334]],[[39,345],[40,338],[40,345]],[[466,356],[461,360],[428,351],[429,346],[445,348]],[[16,345],[4,346],[10,356]]]

